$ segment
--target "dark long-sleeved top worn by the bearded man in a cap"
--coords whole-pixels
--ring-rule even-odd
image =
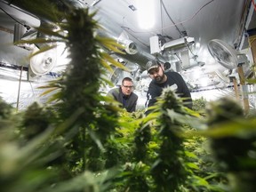
[[[179,97],[186,98],[184,100],[184,106],[192,108],[191,94],[188,90],[188,86],[182,76],[174,71],[165,72],[167,81],[163,84],[157,84],[156,80],[152,80],[148,86],[146,107],[150,107],[155,104],[156,98],[159,97],[165,87],[171,86]]]

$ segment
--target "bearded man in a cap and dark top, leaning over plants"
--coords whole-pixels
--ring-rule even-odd
[[[156,97],[160,96],[163,89],[171,86],[172,90],[180,97],[186,98],[184,106],[192,108],[191,94],[182,76],[174,71],[164,72],[164,65],[156,60],[149,60],[146,64],[148,75],[152,79],[148,86],[146,107],[155,104]],[[146,112],[148,114],[149,111]]]

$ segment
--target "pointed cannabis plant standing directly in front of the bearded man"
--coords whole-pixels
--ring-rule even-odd
[[[159,153],[156,162],[152,166],[152,176],[156,181],[157,191],[179,191],[180,186],[184,185],[188,177],[185,166],[180,161],[180,156],[184,156],[182,138],[178,136],[182,125],[171,116],[168,116],[168,110],[185,115],[182,110],[181,100],[177,99],[172,90],[165,89],[161,95],[160,116],[157,117],[159,125],[157,129],[158,140],[160,143]]]

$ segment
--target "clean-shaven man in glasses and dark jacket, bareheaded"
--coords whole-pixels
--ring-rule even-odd
[[[138,95],[133,92],[133,83],[130,77],[124,77],[120,88],[114,88],[107,94],[122,104],[128,112],[136,110]]]

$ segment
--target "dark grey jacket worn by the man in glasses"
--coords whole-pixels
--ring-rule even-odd
[[[121,88],[114,88],[110,90],[107,94],[108,96],[113,96],[115,100],[121,103],[123,108],[126,108],[128,112],[133,112],[136,110],[138,95],[134,92],[129,96],[125,96],[121,90]]]

